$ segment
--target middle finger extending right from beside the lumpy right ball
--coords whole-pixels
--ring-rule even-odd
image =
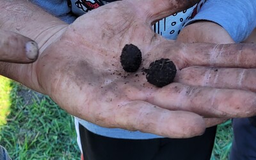
[[[175,81],[193,86],[242,89],[256,92],[256,70],[245,68],[187,67]]]

